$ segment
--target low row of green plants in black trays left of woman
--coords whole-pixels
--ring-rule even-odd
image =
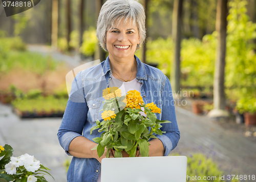
[[[55,98],[54,96],[36,98],[18,98],[12,102],[12,106],[22,112],[64,112],[67,105],[67,98]]]

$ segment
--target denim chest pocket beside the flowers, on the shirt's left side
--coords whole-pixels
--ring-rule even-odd
[[[87,106],[88,106],[87,119],[92,124],[99,119],[99,108],[101,106],[101,102],[102,101],[95,98],[90,98],[87,101]]]

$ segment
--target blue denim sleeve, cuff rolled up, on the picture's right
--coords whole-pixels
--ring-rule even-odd
[[[161,102],[162,102],[162,117],[161,120],[168,120],[171,123],[163,123],[160,128],[162,131],[166,132],[163,135],[157,135],[158,139],[163,143],[165,152],[164,155],[167,156],[170,151],[175,149],[180,139],[180,131],[178,128],[174,100],[173,100],[173,92],[170,86],[170,81],[165,76],[165,82],[161,92]]]

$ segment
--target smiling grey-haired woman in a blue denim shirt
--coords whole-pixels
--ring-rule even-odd
[[[168,78],[134,55],[145,40],[142,5],[134,0],[106,1],[97,22],[97,38],[109,57],[76,75],[58,131],[60,145],[73,155],[67,175],[70,182],[100,180],[101,160],[106,153],[98,158],[97,151],[91,150],[97,145],[92,139],[100,133],[94,130],[90,135],[90,129],[97,119],[102,121],[102,90],[106,87],[118,86],[122,94],[139,91],[145,103],[154,102],[161,109],[157,119],[172,122],[162,124],[166,133],[150,141],[150,156],[168,155],[180,139]]]

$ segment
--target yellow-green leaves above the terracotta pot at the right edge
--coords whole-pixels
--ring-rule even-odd
[[[256,98],[255,97],[244,97],[238,100],[237,109],[240,114],[249,112],[251,114],[256,112]]]

